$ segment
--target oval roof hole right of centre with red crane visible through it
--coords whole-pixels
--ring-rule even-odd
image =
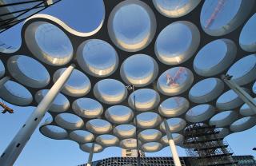
[[[190,69],[174,67],[161,74],[157,87],[160,93],[175,96],[189,89],[193,81],[194,76]]]

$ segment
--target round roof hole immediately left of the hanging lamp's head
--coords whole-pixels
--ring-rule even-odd
[[[105,104],[114,105],[126,99],[127,89],[120,81],[105,79],[94,86],[94,96]]]

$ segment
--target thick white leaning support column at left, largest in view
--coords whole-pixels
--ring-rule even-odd
[[[74,65],[70,65],[70,67],[68,67],[64,73],[62,73],[61,77],[58,78],[58,81],[55,82],[46,96],[38,104],[38,107],[34,109],[34,112],[31,113],[26,123],[18,131],[16,136],[14,136],[14,139],[2,153],[2,156],[0,156],[1,166],[10,166],[14,164],[15,160],[17,160],[19,154],[22,152],[22,149],[25,147],[26,142],[30,140],[30,136],[38,127],[40,121],[42,121],[42,118],[50,108],[54,98],[61,91],[63,85],[65,85],[73,70]]]

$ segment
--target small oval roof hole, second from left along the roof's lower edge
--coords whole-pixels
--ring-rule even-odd
[[[70,139],[78,142],[79,144],[84,144],[86,142],[93,141],[94,135],[85,130],[74,130],[70,132]]]

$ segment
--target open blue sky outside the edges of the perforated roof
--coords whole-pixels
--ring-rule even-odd
[[[78,31],[94,30],[102,19],[103,15],[102,0],[62,0],[43,13],[52,14],[62,19],[69,26]],[[18,46],[21,43],[20,29],[22,24],[14,26],[5,33],[0,34],[0,40],[9,45]],[[14,114],[0,114],[0,153],[4,151],[10,143],[18,129],[32,113],[33,108],[14,108]],[[44,121],[44,120],[43,120]],[[255,141],[256,127],[250,128],[245,132],[234,133],[226,137],[235,155],[256,155],[251,149],[256,147]],[[178,148],[181,156],[185,156],[185,150]],[[164,148],[160,152],[147,153],[147,156],[170,156],[170,149]],[[95,154],[94,160],[110,156],[121,156],[120,148],[106,148],[103,152]],[[22,154],[14,165],[78,165],[86,163],[88,154],[78,148],[78,144],[71,140],[51,140],[38,131],[34,132],[30,141],[26,144]]]

